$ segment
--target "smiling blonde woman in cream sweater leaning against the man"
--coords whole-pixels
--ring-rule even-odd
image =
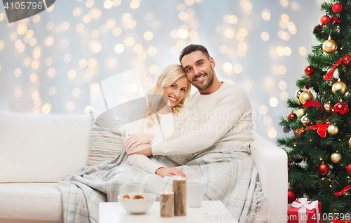
[[[157,78],[155,86],[147,93],[147,95],[162,95],[162,97],[154,103],[149,100],[149,116],[126,126],[128,138],[125,148],[136,141],[154,144],[189,133],[193,124],[192,112],[184,107],[184,103],[190,97],[190,88],[191,85],[187,81],[183,67],[180,65],[165,67]],[[177,165],[184,165],[192,158],[192,154],[167,157]],[[148,173],[156,173],[161,177],[174,175],[186,177],[182,170],[165,168],[144,155],[128,156],[127,161],[130,165]]]

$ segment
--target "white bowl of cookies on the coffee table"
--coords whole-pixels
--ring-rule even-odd
[[[154,201],[156,201],[156,195],[148,193],[119,194],[117,198],[122,207],[131,214],[147,212],[154,204]]]

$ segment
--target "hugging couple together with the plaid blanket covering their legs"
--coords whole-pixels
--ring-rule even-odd
[[[116,202],[127,182],[142,182],[145,193],[159,198],[172,191],[176,175],[203,182],[204,200],[222,201],[238,222],[258,210],[264,195],[249,150],[249,98],[218,80],[204,46],[185,47],[180,64],[166,67],[149,92],[168,106],[148,104],[149,116],[126,124],[126,149],[117,158],[59,182],[64,222],[98,222],[99,203]],[[190,84],[199,90],[192,96]]]

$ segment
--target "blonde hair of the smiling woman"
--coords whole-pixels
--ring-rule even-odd
[[[162,95],[164,95],[164,88],[171,86],[174,82],[176,82],[181,77],[186,77],[187,74],[184,72],[184,69],[180,65],[171,64],[164,69],[162,69],[161,74],[157,77],[157,81],[155,85],[147,92],[147,95],[160,95],[160,99],[157,100],[155,103],[150,103],[148,106],[149,109],[149,119],[150,121],[147,123],[147,126],[152,127],[154,126],[154,116],[151,114],[157,114],[159,110],[159,106],[164,102],[162,102]],[[183,108],[185,102],[190,98],[190,90],[191,84],[188,82],[187,90],[185,91],[185,96],[183,99],[176,104],[176,106],[171,107],[172,113],[178,113]],[[167,98],[168,100],[168,98]]]

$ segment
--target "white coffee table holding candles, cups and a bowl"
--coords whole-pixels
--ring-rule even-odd
[[[100,223],[172,223],[172,222],[235,222],[229,210],[221,201],[203,201],[200,208],[187,208],[186,216],[160,217],[159,201],[155,201],[152,208],[143,215],[132,215],[124,210],[118,202],[99,203]]]

